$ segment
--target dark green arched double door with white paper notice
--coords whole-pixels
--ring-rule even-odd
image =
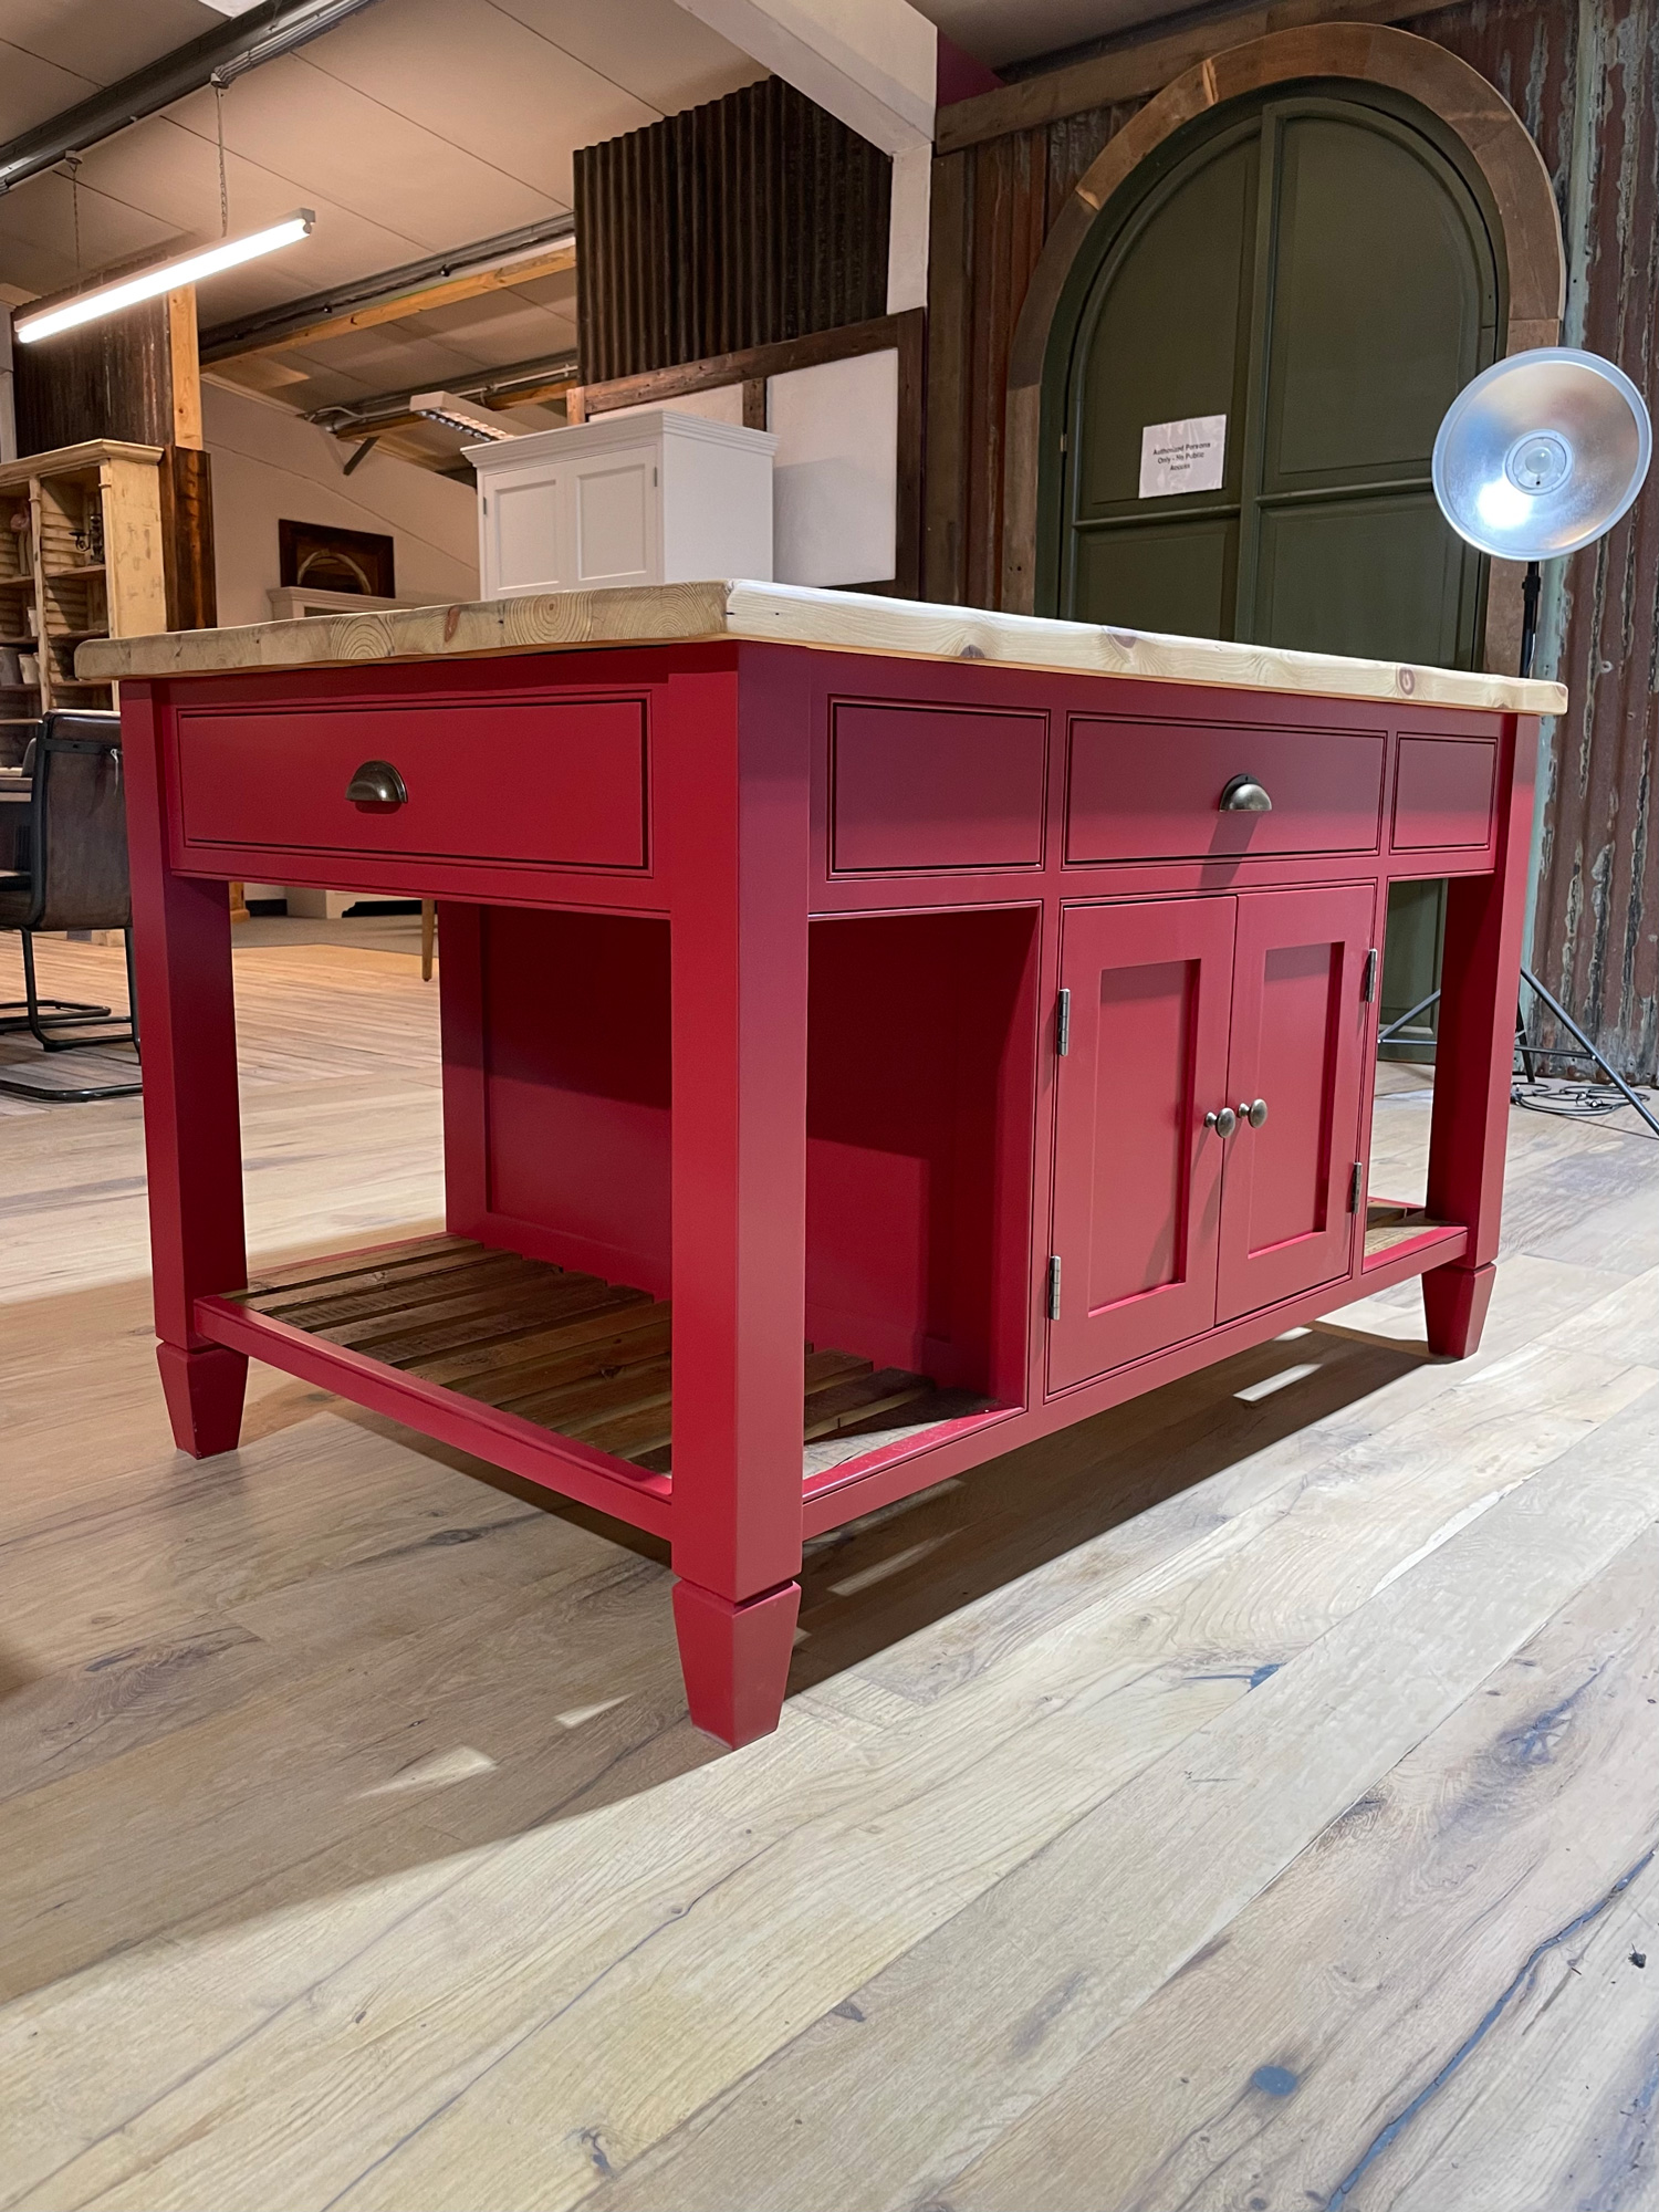
[[[1460,153],[1409,102],[1314,84],[1141,164],[1053,325],[1040,611],[1480,664],[1484,564],[1429,482],[1504,319]],[[1385,1018],[1433,989],[1438,907],[1413,885],[1391,909]]]

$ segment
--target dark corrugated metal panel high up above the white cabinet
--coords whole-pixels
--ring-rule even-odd
[[[887,310],[891,164],[781,77],[575,157],[584,383]]]

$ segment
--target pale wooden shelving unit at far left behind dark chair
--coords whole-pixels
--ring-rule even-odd
[[[0,465],[0,765],[55,706],[113,706],[75,677],[88,637],[166,628],[161,449],[95,440]],[[29,655],[7,681],[11,655]]]

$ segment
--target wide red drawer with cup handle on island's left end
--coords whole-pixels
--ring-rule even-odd
[[[365,761],[405,805],[347,801]],[[646,867],[641,699],[186,710],[177,781],[186,847]]]

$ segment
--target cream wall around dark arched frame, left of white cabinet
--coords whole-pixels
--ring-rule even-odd
[[[478,597],[478,511],[469,484],[389,453],[341,476],[349,451],[285,407],[204,383],[201,425],[212,456],[212,535],[219,622],[270,622],[281,584],[276,522],[336,522],[389,531],[400,599],[440,606]]]

